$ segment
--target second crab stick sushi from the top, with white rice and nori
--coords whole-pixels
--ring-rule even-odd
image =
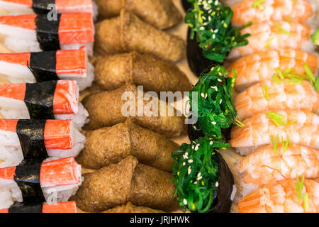
[[[86,45],[88,54],[93,54],[91,13],[58,13],[56,18],[47,14],[1,16],[0,34],[12,52],[74,50]]]

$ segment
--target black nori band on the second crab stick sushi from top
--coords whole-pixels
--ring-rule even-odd
[[[59,50],[59,25],[61,14],[57,13],[57,21],[49,21],[47,14],[39,14],[35,18],[35,26],[37,31],[37,39],[40,48],[45,51]]]

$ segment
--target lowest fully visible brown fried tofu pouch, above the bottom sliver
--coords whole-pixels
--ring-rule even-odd
[[[128,156],[118,164],[84,175],[84,182],[72,200],[87,212],[106,211],[128,201],[137,206],[174,211],[178,202],[170,177],[173,175],[139,164],[136,157]]]

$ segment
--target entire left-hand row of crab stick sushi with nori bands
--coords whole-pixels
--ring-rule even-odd
[[[57,1],[59,12],[74,12],[50,20],[47,4],[0,2],[1,13],[26,14],[0,17],[9,52],[0,54],[7,83],[0,85],[1,212],[77,212],[69,198],[83,181],[74,156],[84,148],[79,131],[89,116],[79,90],[94,80],[93,6]]]

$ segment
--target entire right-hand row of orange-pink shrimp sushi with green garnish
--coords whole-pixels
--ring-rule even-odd
[[[240,212],[319,211],[317,7],[243,0],[232,8],[233,25],[251,21],[241,30],[249,44],[228,57],[241,57],[228,66],[241,120],[230,145],[246,156],[237,163]]]

